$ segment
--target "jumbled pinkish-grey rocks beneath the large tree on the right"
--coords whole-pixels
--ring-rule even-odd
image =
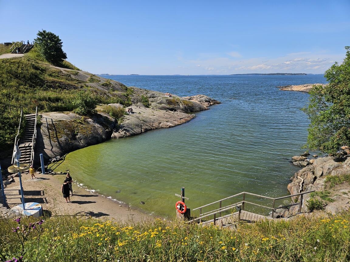
[[[345,181],[331,185],[327,181],[331,180],[332,177],[350,174],[350,147],[343,146],[342,152],[343,161],[339,161],[332,156],[317,158],[317,155],[313,156],[316,159],[309,159],[307,158],[307,152],[292,158],[294,165],[303,168],[290,177],[292,182],[287,186],[290,195],[316,190],[314,194],[304,195],[301,212],[312,212],[309,201],[314,199],[318,199],[319,203],[322,203],[323,210],[327,213],[336,214],[350,209],[349,183]],[[321,192],[321,194],[318,192]],[[291,198],[292,202],[290,204],[300,201],[300,196]],[[280,208],[276,210],[274,217],[288,218],[295,216],[298,211],[299,205],[291,206],[289,209]]]

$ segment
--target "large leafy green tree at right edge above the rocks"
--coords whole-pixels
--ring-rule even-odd
[[[345,46],[342,64],[337,62],[325,71],[327,86],[314,86],[310,103],[303,111],[311,124],[306,146],[334,154],[340,146],[350,146],[350,46]]]

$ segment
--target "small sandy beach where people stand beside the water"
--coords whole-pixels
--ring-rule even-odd
[[[22,174],[22,185],[25,202],[37,202],[42,204],[44,210],[48,210],[52,216],[75,215],[86,218],[106,218],[116,221],[145,221],[153,219],[152,216],[139,210],[131,209],[109,198],[90,192],[78,187],[74,183],[71,202],[66,203],[61,192],[61,185],[66,175],[43,175],[35,173],[37,179],[30,179],[28,173]],[[9,184],[5,189],[8,206],[11,208],[21,204],[19,177],[14,177],[15,182]]]

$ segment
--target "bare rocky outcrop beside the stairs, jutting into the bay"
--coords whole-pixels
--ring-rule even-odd
[[[39,155],[49,160],[64,154],[102,143],[110,138],[134,136],[158,128],[171,128],[186,123],[195,117],[190,112],[207,110],[220,102],[205,95],[179,97],[165,96],[160,92],[130,87],[133,89],[133,114],[126,114],[121,123],[98,111],[91,117],[79,116],[73,112],[48,112],[41,115],[41,127],[37,133],[35,161]],[[138,97],[144,95],[151,103],[145,107]],[[121,104],[109,104],[123,107]],[[126,110],[126,109],[125,109]]]

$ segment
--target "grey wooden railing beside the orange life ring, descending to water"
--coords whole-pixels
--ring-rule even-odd
[[[214,219],[211,219],[211,220],[209,220],[209,221],[210,221],[210,222],[214,222],[214,225],[215,225],[215,222],[216,222],[218,219],[222,219],[222,218],[225,218],[225,217],[230,217],[230,216],[233,216],[233,215],[236,215],[236,214],[238,214],[238,220],[239,220],[239,219],[240,219],[240,211],[241,211],[241,210],[244,211],[245,204],[251,204],[251,205],[254,205],[254,206],[259,206],[260,208],[266,208],[266,209],[271,210],[271,211],[272,211],[272,213],[271,213],[271,217],[272,217],[272,218],[274,218],[274,212],[275,212],[276,209],[287,208],[287,207],[289,207],[289,206],[299,205],[298,212],[301,212],[301,208],[302,208],[302,205],[303,205],[303,196],[304,196],[304,194],[308,194],[308,193],[311,193],[311,192],[314,192],[314,191],[315,191],[315,190],[311,190],[311,191],[308,191],[308,192],[302,192],[302,193],[299,193],[299,194],[294,194],[294,195],[289,195],[289,196],[283,196],[283,197],[276,197],[276,198],[267,197],[267,196],[261,196],[261,195],[252,194],[252,193],[249,193],[249,192],[241,192],[241,193],[239,193],[239,194],[236,194],[236,195],[233,195],[233,196],[229,196],[229,197],[220,199],[220,200],[218,200],[218,201],[212,202],[212,203],[210,203],[210,204],[200,206],[199,208],[193,209],[192,211],[195,211],[195,210],[199,210],[199,211],[200,211],[199,217],[197,217],[197,218],[195,218],[195,219],[192,219],[192,220],[188,221],[187,223],[190,223],[190,222],[193,222],[193,221],[197,221],[197,220],[198,220],[199,223],[202,223],[202,219],[203,219],[203,218],[208,218],[208,217],[210,217],[210,216],[214,216]],[[259,198],[265,198],[265,199],[272,200],[272,207],[270,207],[270,206],[265,206],[265,205],[260,205],[260,204],[257,204],[257,203],[253,203],[253,202],[246,201],[246,200],[245,200],[246,195],[250,195],[250,196],[255,196],[255,197],[259,197]],[[222,207],[222,202],[223,202],[223,201],[228,200],[228,199],[231,199],[231,198],[234,198],[234,197],[239,197],[239,196],[242,196],[242,201]],[[285,205],[285,206],[279,206],[279,207],[277,207],[277,208],[275,207],[276,200],[280,200],[280,199],[284,199],[284,198],[289,198],[289,197],[293,197],[293,196],[300,196],[300,202],[293,203],[293,204],[289,204],[289,205]],[[202,209],[203,209],[203,208],[205,208],[205,207],[207,207],[207,206],[210,206],[210,205],[213,205],[213,204],[219,204],[219,208],[218,208],[218,209],[211,210],[211,211],[208,211],[208,212],[202,213]],[[231,210],[231,209],[233,209],[233,208],[236,208],[236,209],[238,210],[238,212],[234,212],[234,213],[231,213],[231,214],[227,214],[227,215],[225,215],[225,216],[222,216],[222,212]],[[217,214],[219,214],[218,217],[217,217]],[[209,221],[205,221],[205,223],[208,223]]]

